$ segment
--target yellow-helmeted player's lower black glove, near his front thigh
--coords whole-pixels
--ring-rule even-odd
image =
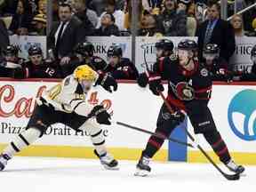
[[[111,124],[109,119],[111,116],[108,114],[106,109],[102,105],[97,105],[94,108],[92,108],[91,113],[89,114],[89,117],[95,116],[96,120],[99,124]]]

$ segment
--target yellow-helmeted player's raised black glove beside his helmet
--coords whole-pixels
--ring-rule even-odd
[[[112,92],[113,90],[116,92],[117,90],[116,79],[108,74],[100,74],[96,82],[96,85],[97,84],[100,84],[108,92]]]

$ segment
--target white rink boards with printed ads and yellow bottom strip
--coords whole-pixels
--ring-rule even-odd
[[[45,88],[56,83],[56,80],[0,81],[0,148],[4,148],[13,135],[24,130],[29,116],[32,115],[35,98],[40,96]],[[255,98],[256,84],[217,83],[213,86],[212,100],[209,104],[215,123],[231,154],[237,162],[243,164],[256,164]],[[118,91],[113,94],[96,87],[90,92],[87,100],[92,105],[103,102],[109,112],[113,111],[116,121],[152,132],[155,130],[158,111],[163,103],[160,97],[133,82],[120,82]],[[193,131],[189,121],[181,126],[188,127],[190,132]],[[119,159],[138,159],[148,141],[147,134],[116,124],[104,126],[103,130],[109,150]],[[54,124],[48,128],[44,138],[19,155],[92,158],[95,156],[92,154],[91,140],[87,135],[87,132],[75,132],[63,124]],[[177,128],[172,137],[188,140],[182,128]],[[198,141],[211,151],[203,138],[199,136]],[[167,141],[156,155],[156,160],[206,162],[197,150]]]

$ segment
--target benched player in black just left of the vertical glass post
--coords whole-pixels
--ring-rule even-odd
[[[131,60],[123,57],[123,50],[118,44],[108,48],[108,60],[108,67],[104,69],[105,73],[111,74],[115,79],[137,79],[139,75],[137,68]]]

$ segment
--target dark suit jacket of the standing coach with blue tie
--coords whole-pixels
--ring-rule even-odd
[[[205,20],[196,31],[198,36],[199,59],[202,59],[204,49],[204,36],[209,20]],[[236,51],[236,39],[234,29],[226,20],[218,20],[212,31],[211,44],[220,46],[220,57],[229,60]]]

